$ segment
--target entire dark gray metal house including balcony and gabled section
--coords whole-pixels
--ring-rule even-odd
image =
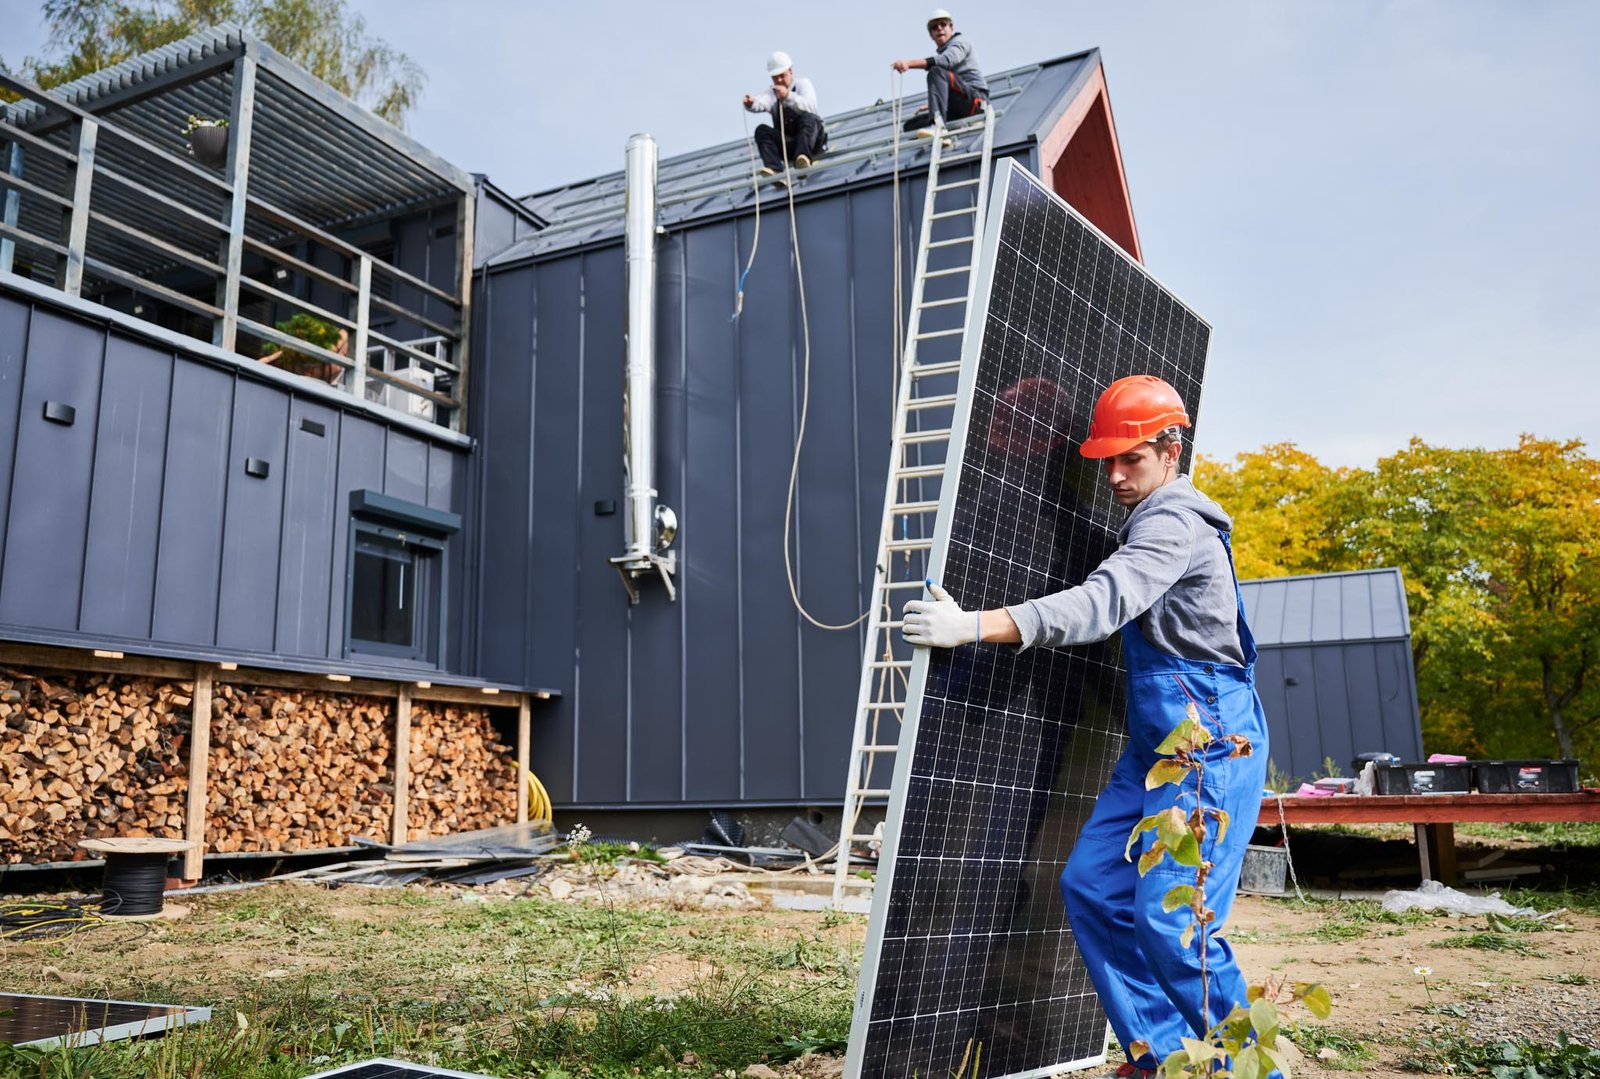
[[[1138,258],[1099,54],[990,83],[997,155]],[[790,552],[859,613],[928,160],[891,104],[829,117],[798,253],[742,141],[664,158],[642,327],[624,173],[512,199],[237,27],[0,85],[0,642],[538,690],[563,807],[842,799],[862,639],[782,523],[808,325]]]

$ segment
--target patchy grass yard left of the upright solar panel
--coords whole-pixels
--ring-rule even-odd
[[[827,1052],[848,1034],[850,925],[472,898],[274,885],[194,896],[174,924],[0,943],[16,991],[214,1009],[144,1042],[0,1047],[0,1079],[299,1079],[370,1057],[690,1079]]]

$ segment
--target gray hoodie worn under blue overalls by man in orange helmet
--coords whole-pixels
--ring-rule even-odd
[[[1218,528],[1232,531],[1232,519],[1187,475],[1157,487],[1083,584],[1006,608],[1021,647],[1091,644],[1138,618],[1160,652],[1243,666],[1234,572]]]

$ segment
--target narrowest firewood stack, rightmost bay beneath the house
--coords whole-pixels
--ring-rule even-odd
[[[411,706],[406,837],[494,828],[517,820],[517,756],[482,708]]]

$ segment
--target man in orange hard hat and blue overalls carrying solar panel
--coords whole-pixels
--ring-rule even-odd
[[[1118,1076],[1154,1074],[1182,1049],[1179,1039],[1197,1037],[1245,1004],[1245,980],[1216,930],[1232,909],[1261,808],[1267,722],[1254,688],[1256,644],[1234,576],[1232,520],[1178,471],[1187,426],[1178,391],[1160,378],[1112,383],[1094,405],[1080,453],[1106,463],[1112,498],[1128,511],[1118,549],[1077,588],[995,610],[965,612],[930,581],[934,599],[906,604],[902,631],[910,644],[934,648],[974,640],[1086,645],[1122,631],[1128,748],[1061,874],[1072,933],[1117,1039],[1125,1052],[1136,1041],[1150,1045],[1144,1057],[1128,1052]],[[1163,858],[1141,877],[1125,848],[1141,818],[1178,804],[1178,788],[1146,791],[1144,776],[1189,704],[1213,735],[1243,735],[1254,752],[1230,759],[1226,741],[1206,751],[1200,799],[1226,810],[1230,824],[1221,840],[1213,826],[1202,850],[1213,863],[1206,905],[1216,921],[1184,946],[1192,914],[1163,911],[1162,896],[1194,884],[1195,871]],[[1192,808],[1192,780],[1187,789]],[[1141,842],[1149,850],[1154,832]],[[1210,1015],[1202,1015],[1202,972]]]

